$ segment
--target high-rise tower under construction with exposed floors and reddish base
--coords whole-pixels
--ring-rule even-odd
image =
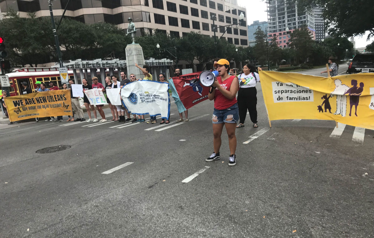
[[[311,36],[316,40],[315,8],[300,11],[297,4],[287,3],[285,0],[268,0],[268,41],[277,37],[279,47],[288,47],[291,43],[289,33],[306,25]],[[287,29],[288,28],[288,29]]]

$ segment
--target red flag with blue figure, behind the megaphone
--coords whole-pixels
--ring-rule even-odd
[[[173,77],[175,89],[186,109],[208,99],[210,87],[205,87],[200,84],[200,73],[201,72],[195,72]]]

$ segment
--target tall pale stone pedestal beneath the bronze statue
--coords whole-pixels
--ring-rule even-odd
[[[126,62],[127,62],[127,77],[130,79],[130,74],[135,74],[137,79],[144,78],[143,72],[135,66],[137,63],[140,67],[145,64],[143,49],[140,44],[128,44],[126,46]],[[153,75],[152,75],[153,76]]]

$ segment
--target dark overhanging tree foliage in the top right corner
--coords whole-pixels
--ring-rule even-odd
[[[327,20],[328,32],[332,35],[351,37],[369,31],[368,40],[374,36],[373,0],[287,0],[299,9],[323,6],[323,16]]]

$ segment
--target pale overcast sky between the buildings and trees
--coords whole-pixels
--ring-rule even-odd
[[[239,6],[247,9],[247,24],[251,25],[253,21],[267,21],[266,3],[263,0],[238,0]],[[372,37],[370,41],[366,41],[368,32],[363,37],[355,37],[356,48],[365,47],[374,40]]]

